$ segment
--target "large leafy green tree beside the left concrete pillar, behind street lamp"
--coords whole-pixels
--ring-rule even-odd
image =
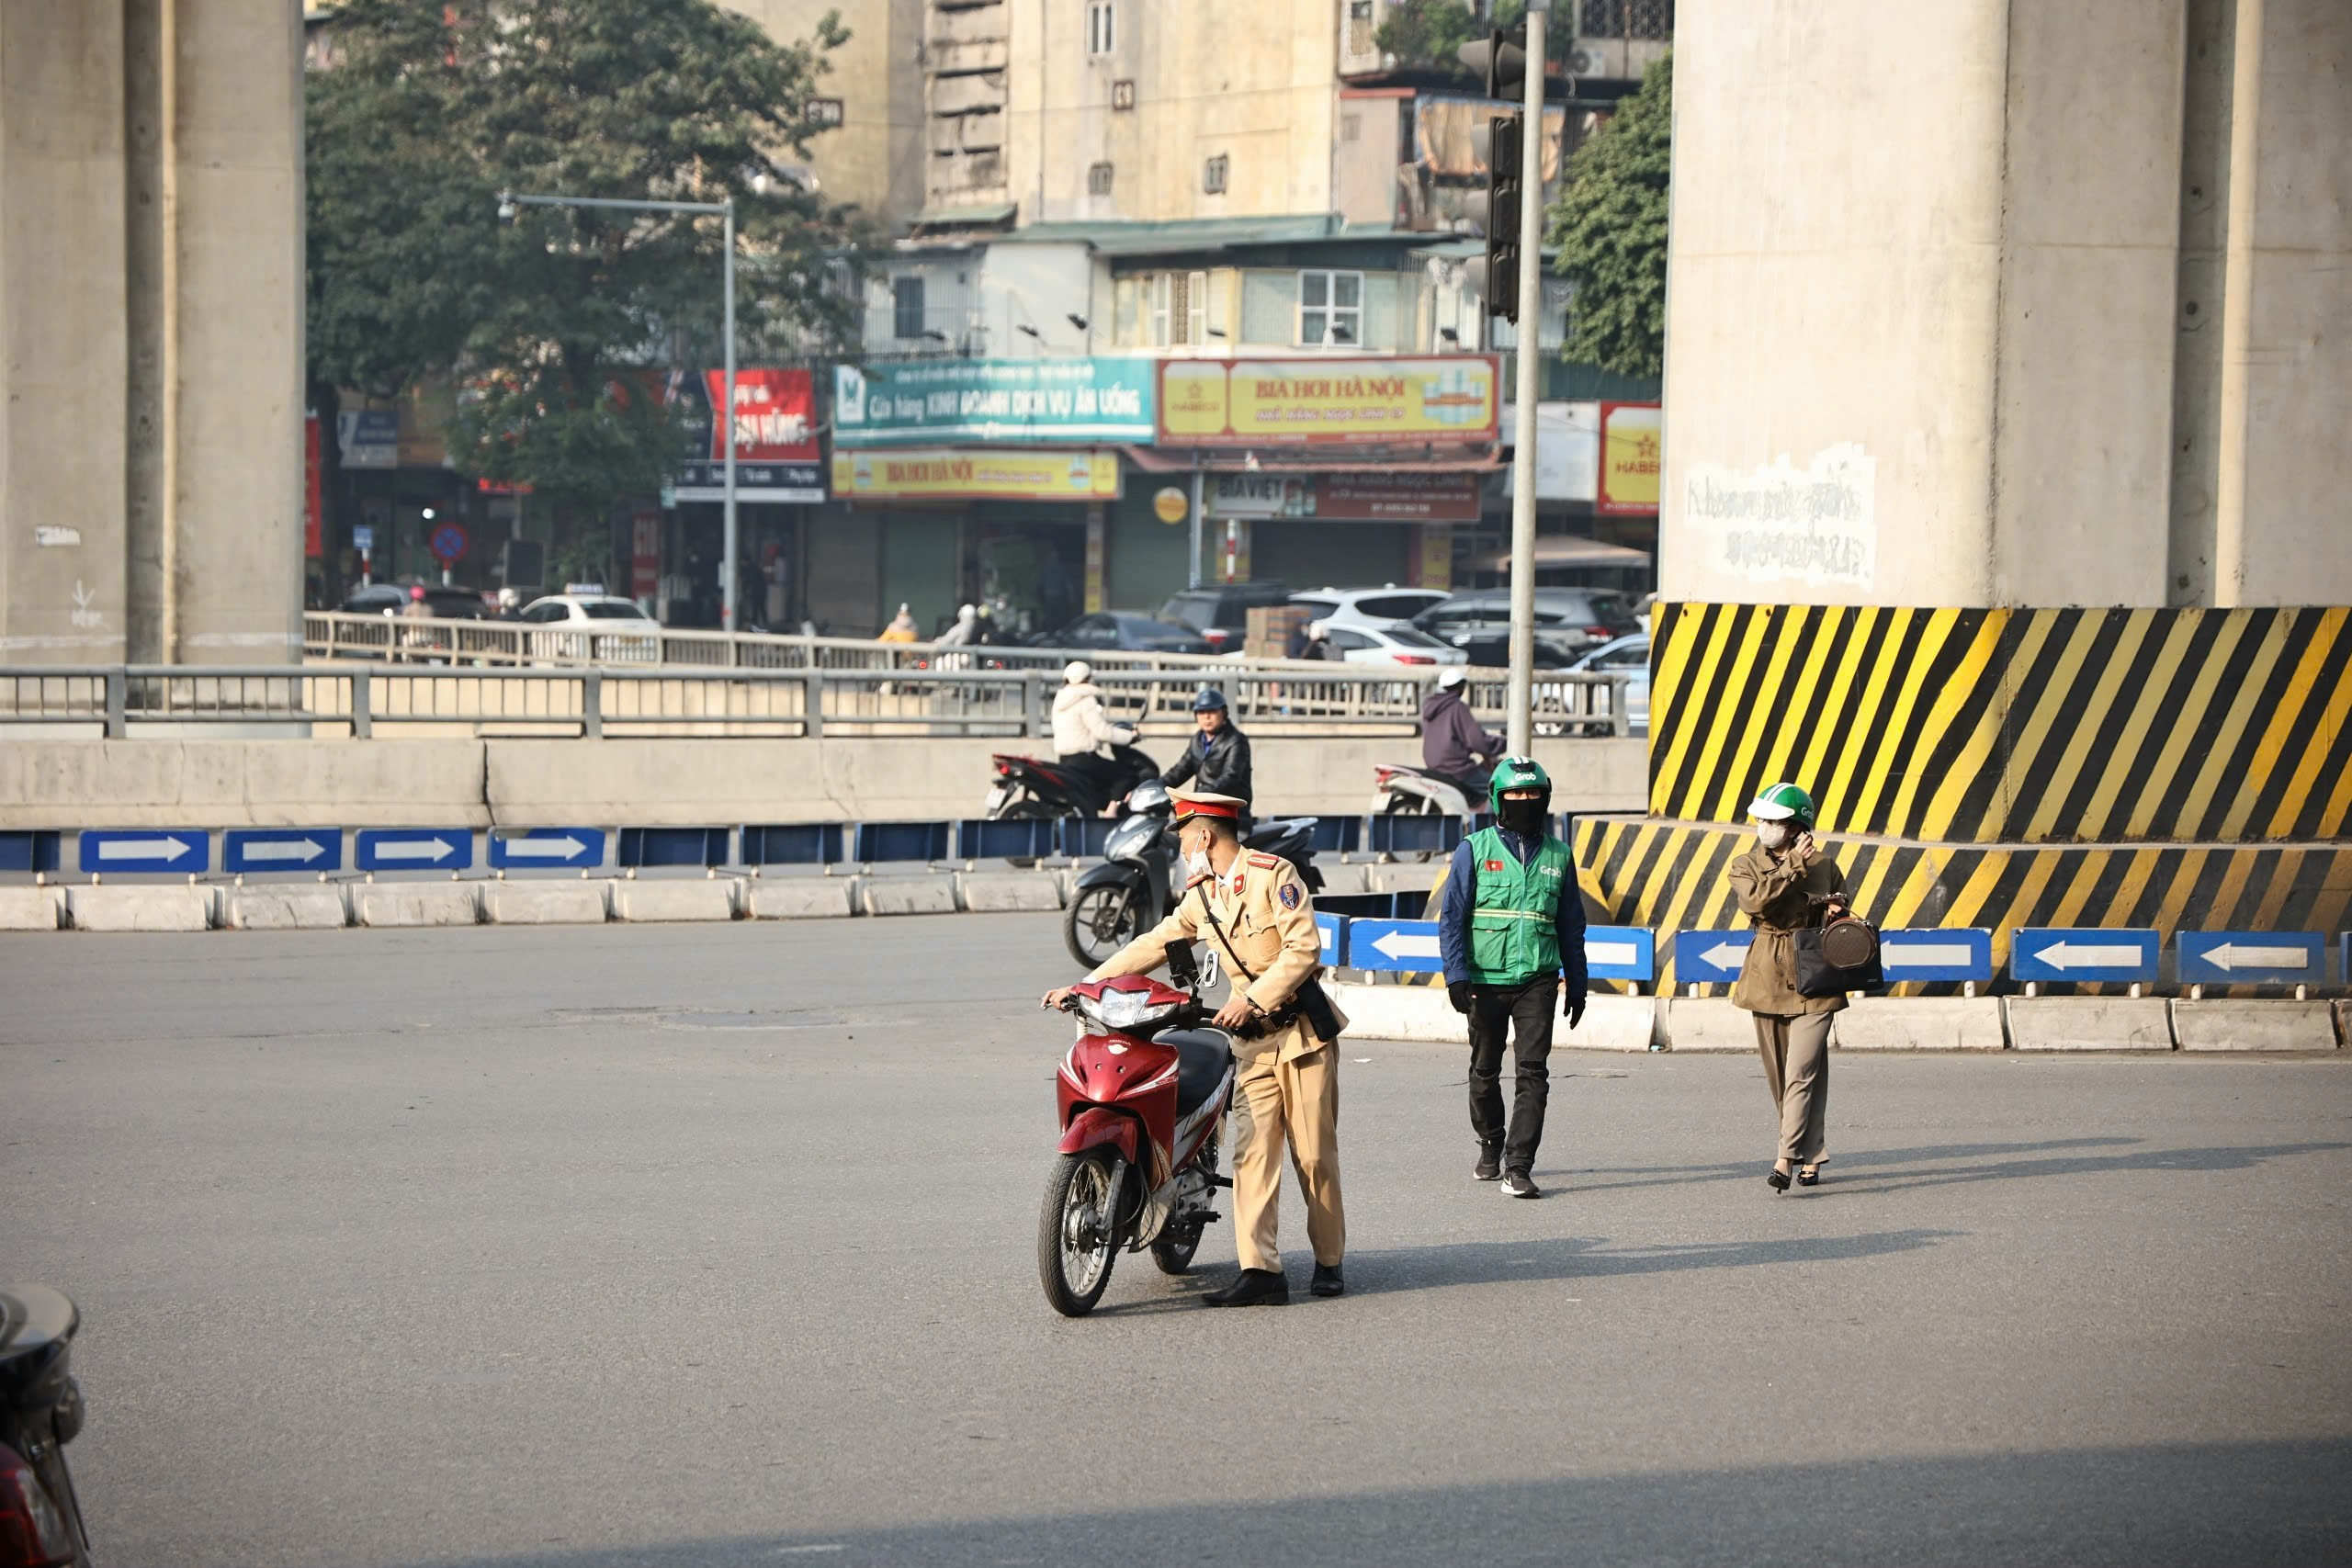
[[[734,197],[746,355],[840,310],[854,214],[779,158],[837,14],[779,45],[710,0],[350,0],[308,92],[310,378],[459,381],[452,458],[557,501],[647,494],[677,468],[666,367],[720,360],[722,223],[522,207],[499,193]]]

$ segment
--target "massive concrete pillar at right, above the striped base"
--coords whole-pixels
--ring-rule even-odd
[[[2352,599],[2347,33],[2343,0],[1684,16],[1665,597]]]

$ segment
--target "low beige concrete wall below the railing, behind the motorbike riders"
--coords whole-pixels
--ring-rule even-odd
[[[0,827],[691,825],[974,816],[1016,741],[9,741]],[[1174,757],[1174,736],[1145,738]],[[1359,813],[1418,743],[1256,745],[1268,811]],[[1562,811],[1637,811],[1642,741],[1548,741]]]

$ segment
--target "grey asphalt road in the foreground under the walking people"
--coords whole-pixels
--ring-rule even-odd
[[[1350,1295],[1054,1316],[1049,917],[0,940],[106,1568],[2345,1563],[2352,1060],[1348,1041]],[[1369,1058],[1369,1060],[1357,1060]],[[1308,1258],[1289,1197],[1294,1284]]]

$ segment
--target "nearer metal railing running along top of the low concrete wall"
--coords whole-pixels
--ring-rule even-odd
[[[463,623],[459,623],[463,625]],[[1237,665],[1101,670],[1124,724],[1190,729],[1192,693],[1216,682],[1235,719],[1291,736],[1411,733],[1435,679],[1376,665]],[[0,724],[327,724],[470,733],[604,736],[1051,736],[1058,665],[1044,670],[833,668],[466,668],[332,663],[263,668],[0,668]],[[1470,701],[1494,715],[1501,675],[1475,675]],[[1536,679],[1538,733],[1628,733],[1623,675]]]

